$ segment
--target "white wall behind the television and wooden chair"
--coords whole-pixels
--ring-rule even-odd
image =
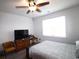
[[[31,18],[0,12],[0,43],[14,40],[14,30],[28,29],[33,34]]]

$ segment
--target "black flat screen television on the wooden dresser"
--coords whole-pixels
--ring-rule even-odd
[[[14,30],[15,40],[27,38],[29,36],[28,30]]]

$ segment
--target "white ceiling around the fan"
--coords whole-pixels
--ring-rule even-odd
[[[42,10],[41,13],[35,11],[26,14],[27,9],[15,8],[15,6],[17,5],[25,5],[24,0],[0,0],[0,10],[28,17],[37,17],[47,15],[79,4],[79,0],[38,0],[38,1],[49,1],[50,4],[41,7],[40,8]]]

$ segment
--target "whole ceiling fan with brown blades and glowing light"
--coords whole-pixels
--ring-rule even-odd
[[[33,11],[41,12],[39,7],[49,4],[49,2],[43,2],[43,3],[36,4],[34,0],[27,0],[27,2],[28,2],[28,6],[16,6],[16,8],[28,8],[28,11],[26,12],[28,14]]]

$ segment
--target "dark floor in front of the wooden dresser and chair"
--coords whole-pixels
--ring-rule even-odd
[[[11,53],[5,57],[0,57],[0,59],[26,59],[26,50],[19,51],[17,53]]]

